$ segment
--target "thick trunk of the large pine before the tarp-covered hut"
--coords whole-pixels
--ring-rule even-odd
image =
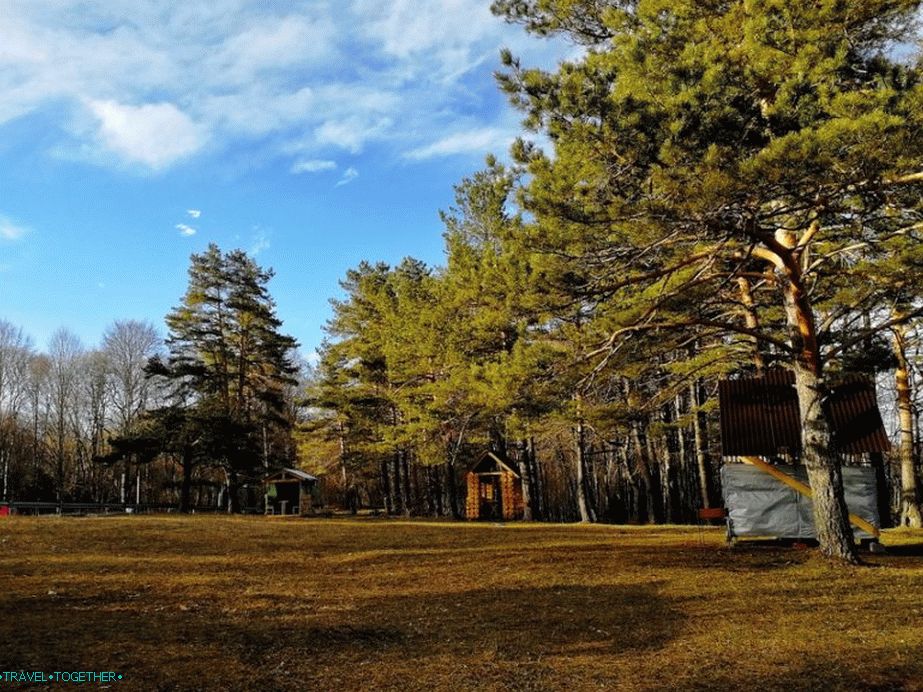
[[[821,373],[814,312],[797,266],[782,279],[785,315],[794,351],[793,367],[801,414],[801,458],[813,492],[814,526],[820,550],[848,563],[859,561],[843,494],[843,475],[823,409],[826,386]]]

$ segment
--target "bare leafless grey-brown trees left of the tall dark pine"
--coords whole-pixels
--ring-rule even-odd
[[[153,325],[124,320],[98,348],[62,328],[40,353],[0,320],[0,497],[125,502],[137,494],[137,469],[105,469],[94,458],[108,434],[130,429],[156,400],[143,368],[159,344]]]

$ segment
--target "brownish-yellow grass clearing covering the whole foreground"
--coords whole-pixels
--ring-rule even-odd
[[[923,690],[923,532],[886,532],[862,567],[723,538],[0,518],[0,689],[113,671],[125,690]]]

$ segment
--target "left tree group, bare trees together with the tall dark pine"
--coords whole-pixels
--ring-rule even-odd
[[[241,250],[194,254],[166,340],[121,320],[98,348],[59,329],[39,353],[0,320],[0,499],[257,505],[266,469],[296,461],[300,410],[271,277]]]

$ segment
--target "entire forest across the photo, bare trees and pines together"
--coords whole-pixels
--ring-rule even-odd
[[[684,523],[721,503],[718,381],[784,368],[822,550],[855,555],[846,461],[881,464],[885,519],[919,527],[917,6],[496,0],[579,57],[503,53],[526,132],[457,184],[444,265],[350,270],[312,368],[271,272],[217,247],[163,347],[124,321],[37,354],[0,323],[3,498],[237,511],[261,470],[299,464],[344,509],[461,518],[490,450],[527,519]],[[855,375],[885,458],[831,437],[823,401]]]

